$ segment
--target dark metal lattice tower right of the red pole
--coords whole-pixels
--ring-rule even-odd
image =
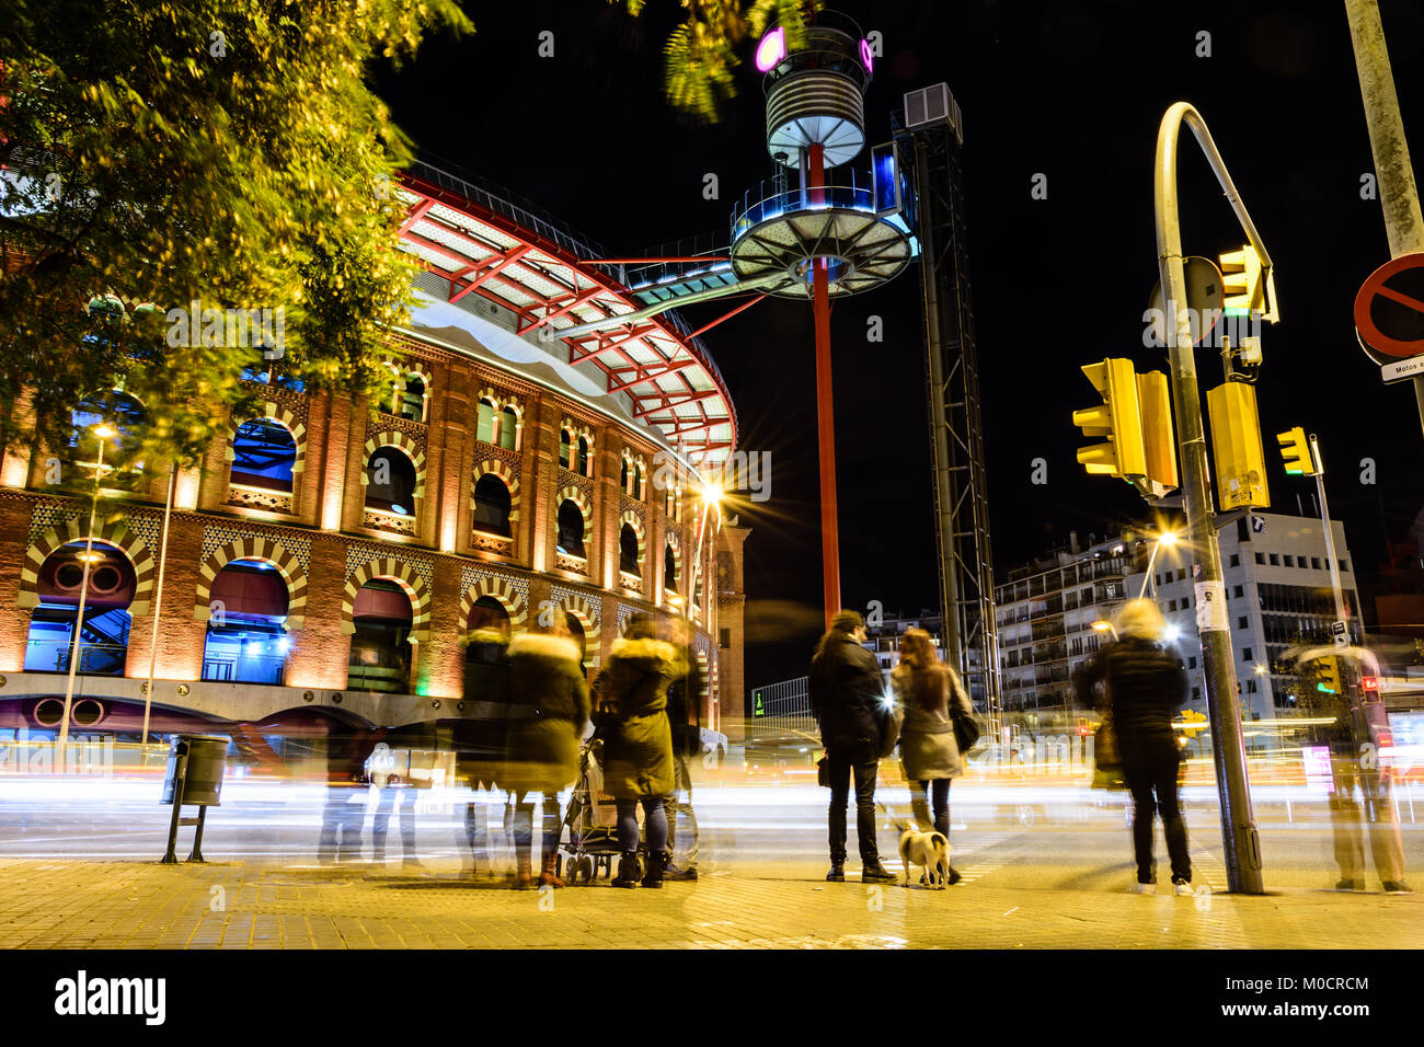
[[[944,650],[997,735],[1002,705],[978,350],[965,246],[958,105],[944,84],[906,95],[896,142],[914,171]],[[911,161],[913,158],[913,161]]]

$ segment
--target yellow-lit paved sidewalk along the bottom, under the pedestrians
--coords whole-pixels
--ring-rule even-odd
[[[4,949],[1421,949],[1424,896],[1129,895],[1125,868],[987,858],[968,882],[824,883],[743,862],[696,883],[511,892],[453,865],[0,862]],[[1163,887],[1165,890],[1165,887]]]

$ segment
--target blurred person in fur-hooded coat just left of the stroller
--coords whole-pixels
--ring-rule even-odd
[[[544,796],[544,866],[540,886],[558,877],[558,792],[578,776],[578,744],[588,724],[588,685],[578,645],[562,625],[521,632],[510,641],[510,719],[500,785],[517,796],[511,886],[531,885],[534,795]]]

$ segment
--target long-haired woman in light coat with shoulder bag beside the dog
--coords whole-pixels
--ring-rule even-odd
[[[896,702],[904,709],[900,726],[900,764],[910,783],[910,806],[921,830],[937,829],[950,838],[950,781],[964,773],[964,754],[954,738],[950,702],[974,715],[960,674],[940,661],[930,634],[906,630],[900,664],[890,672]],[[930,821],[933,791],[934,821]],[[950,886],[961,879],[950,866]]]

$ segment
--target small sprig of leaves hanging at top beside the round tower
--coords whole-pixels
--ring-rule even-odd
[[[608,0],[618,3],[618,0]],[[645,0],[622,0],[638,16]],[[722,105],[736,97],[736,47],[760,38],[772,24],[786,28],[786,41],[802,41],[806,13],[820,10],[822,0],[681,0],[688,19],[664,44],[664,94],[695,120],[716,123]]]

